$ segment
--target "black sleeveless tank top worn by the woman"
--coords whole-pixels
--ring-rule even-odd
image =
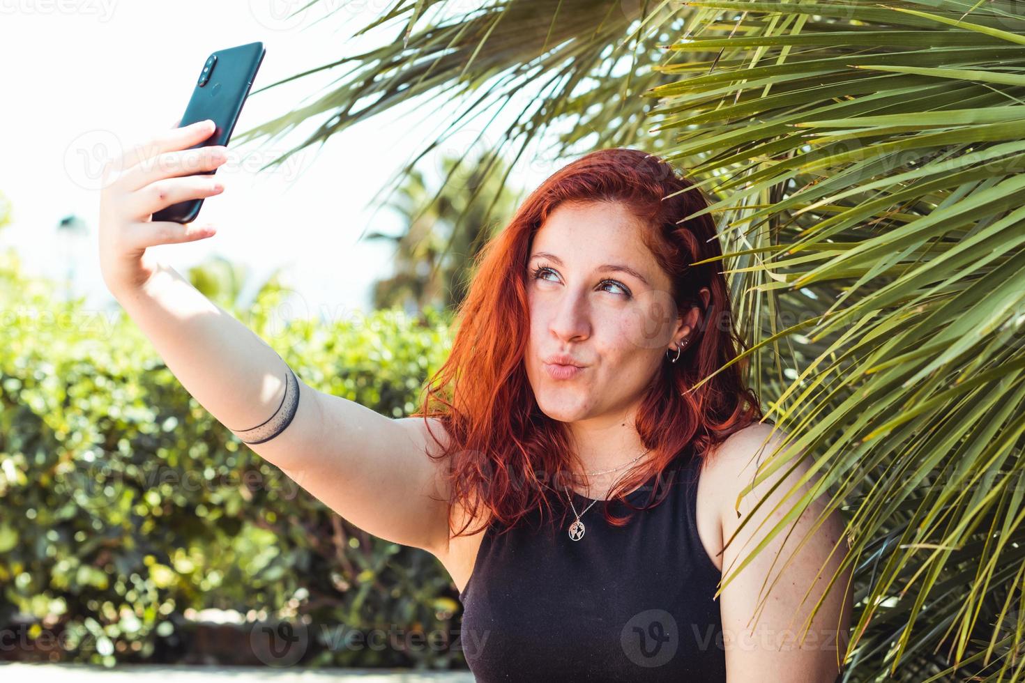
[[[700,459],[685,450],[666,466],[665,499],[650,510],[619,502],[619,528],[599,501],[572,540],[535,510],[505,533],[484,531],[459,594],[460,643],[478,683],[495,681],[726,681],[719,600],[722,572],[698,537]],[[653,475],[626,496],[643,506]],[[659,492],[661,495],[661,487]],[[594,499],[570,489],[577,512]],[[566,503],[566,495],[562,494]],[[654,499],[652,499],[654,500]]]

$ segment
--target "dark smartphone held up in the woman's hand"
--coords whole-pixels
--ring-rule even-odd
[[[206,58],[178,127],[210,119],[215,128],[210,137],[190,150],[228,144],[265,53],[263,43],[256,42],[217,50]],[[196,175],[212,175],[216,170]],[[178,202],[153,214],[153,220],[189,223],[196,220],[202,205],[202,199]]]

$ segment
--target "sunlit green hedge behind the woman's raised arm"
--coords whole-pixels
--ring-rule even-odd
[[[451,639],[448,573],[344,522],[242,444],[120,308],[54,292],[0,255],[0,628],[31,614],[37,649],[49,636],[51,658],[110,666],[161,660],[187,613],[235,609],[306,624],[314,666],[462,660],[457,648],[332,647],[341,625]],[[414,410],[450,347],[438,311],[286,324],[284,295],[264,291],[240,317],[311,386],[383,415]]]

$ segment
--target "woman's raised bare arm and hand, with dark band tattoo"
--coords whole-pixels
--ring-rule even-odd
[[[105,284],[218,422],[244,441],[275,434],[249,444],[257,455],[373,536],[433,552],[447,547],[447,496],[439,461],[425,453],[422,419],[387,418],[298,377],[292,400],[285,395],[291,371],[278,353],[147,251],[213,233],[151,220],[166,206],[219,191],[212,175],[187,175],[227,159],[224,147],[188,148],[211,132],[202,124],[164,131],[108,165],[99,224]],[[250,431],[258,425],[264,427]],[[440,428],[436,433],[443,437]]]

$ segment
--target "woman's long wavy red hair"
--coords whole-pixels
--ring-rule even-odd
[[[672,282],[682,314],[692,305],[703,306],[702,287],[711,293],[695,338],[678,362],[662,364],[637,413],[638,434],[651,449],[654,471],[647,463],[634,467],[634,475],[623,478],[610,502],[620,500],[640,509],[623,500],[624,492],[653,474],[659,475],[653,493],[664,490],[658,485],[662,469],[685,449],[705,458],[727,436],[763,416],[756,395],[744,382],[746,362],[731,365],[688,391],[733,360],[743,346],[723,273],[714,262],[692,265],[722,256],[709,214],[683,220],[708,206],[700,188],[665,161],[639,150],[591,152],[531,193],[475,259],[475,275],[456,313],[452,351],[427,382],[421,409],[412,416],[438,418],[447,432],[447,443],[432,436],[442,446],[437,458],[450,458],[450,525],[456,502],[469,518],[477,519],[483,506],[487,517],[506,526],[538,506],[550,506],[552,489],[542,485],[538,470],[541,476],[566,472],[577,458],[566,425],[538,407],[524,367],[527,261],[534,234],[556,207],[596,201],[622,203],[640,219],[641,237]],[[568,506],[563,508],[565,514]],[[613,517],[604,506],[605,519],[617,526],[630,516]],[[467,525],[468,519],[458,535]]]

